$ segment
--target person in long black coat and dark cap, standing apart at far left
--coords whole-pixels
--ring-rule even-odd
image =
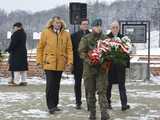
[[[15,80],[19,81],[19,85],[26,85],[26,71],[28,70],[26,33],[20,22],[15,23],[13,29],[11,43],[6,49],[9,52],[9,71],[14,72]],[[12,84],[15,83],[12,82]]]

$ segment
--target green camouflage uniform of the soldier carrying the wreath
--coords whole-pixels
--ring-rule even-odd
[[[79,45],[80,57],[84,59],[84,71],[83,79],[84,85],[88,92],[88,104],[89,110],[92,113],[96,113],[96,92],[98,94],[98,101],[101,110],[101,120],[107,120],[107,98],[106,98],[106,85],[108,84],[106,76],[108,70],[102,69],[102,65],[93,65],[88,59],[88,52],[96,47],[97,40],[104,39],[105,35],[95,35],[90,33],[82,38]],[[103,119],[104,117],[104,119]],[[106,119],[105,119],[106,118]]]

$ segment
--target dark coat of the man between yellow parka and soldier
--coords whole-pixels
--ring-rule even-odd
[[[73,47],[73,73],[83,71],[83,60],[79,56],[78,47],[81,38],[88,33],[90,32],[86,31],[84,33],[83,31],[78,31],[71,35],[72,47]]]

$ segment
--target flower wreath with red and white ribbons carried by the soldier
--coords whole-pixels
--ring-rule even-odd
[[[124,36],[123,38],[114,37],[105,40],[98,40],[95,49],[89,51],[88,57],[92,64],[103,64],[105,61],[111,61],[119,64],[127,64],[131,40]]]

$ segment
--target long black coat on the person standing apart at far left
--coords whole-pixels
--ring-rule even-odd
[[[9,52],[9,70],[28,70],[26,33],[23,29],[14,32],[11,36],[11,43],[6,50]]]

